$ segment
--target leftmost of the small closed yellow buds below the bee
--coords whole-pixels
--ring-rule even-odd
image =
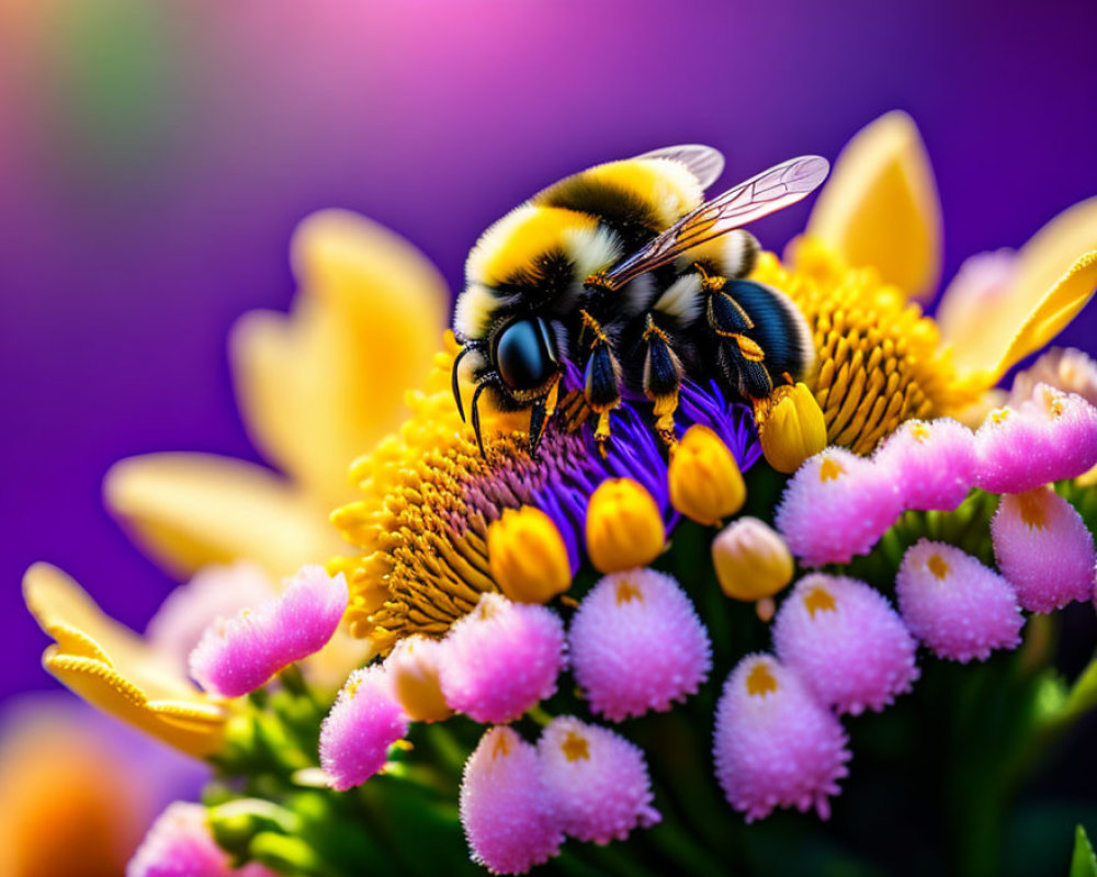
[[[487,531],[491,578],[517,603],[547,603],[572,586],[572,563],[553,520],[532,505],[506,509]]]

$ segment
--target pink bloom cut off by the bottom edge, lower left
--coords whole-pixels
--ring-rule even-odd
[[[234,868],[231,859],[210,832],[206,810],[177,801],[149,830],[126,867],[126,877],[274,877],[262,865]]]

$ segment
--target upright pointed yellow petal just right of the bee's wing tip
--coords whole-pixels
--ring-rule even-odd
[[[872,265],[907,295],[932,295],[941,273],[941,208],[914,121],[891,112],[846,145],[807,224],[855,266]]]

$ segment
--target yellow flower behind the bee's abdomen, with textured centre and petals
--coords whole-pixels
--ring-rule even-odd
[[[996,307],[938,327],[907,299],[940,271],[938,196],[917,128],[889,113],[839,156],[789,263],[762,254],[751,277],[807,319],[830,443],[868,454],[905,420],[961,415],[1074,318],[1097,287],[1095,226],[1093,202],[1065,212],[1022,248]],[[940,312],[962,295],[950,287]]]

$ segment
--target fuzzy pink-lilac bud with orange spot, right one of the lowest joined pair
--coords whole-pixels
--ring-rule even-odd
[[[580,841],[623,841],[659,820],[644,753],[620,734],[558,716],[538,742],[541,779],[564,832]]]

